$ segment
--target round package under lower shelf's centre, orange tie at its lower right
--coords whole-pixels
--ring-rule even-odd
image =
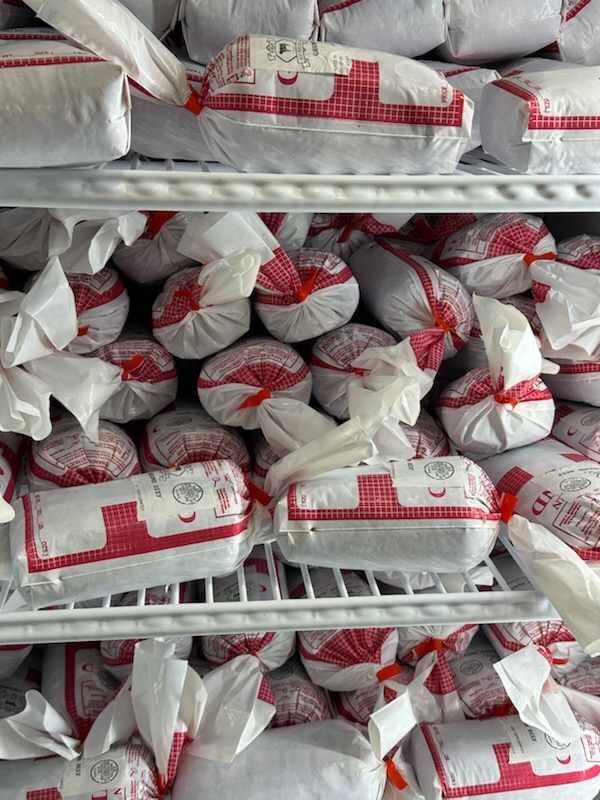
[[[292,597],[307,596],[300,573],[290,584]],[[339,588],[329,570],[313,569],[310,579],[315,597],[337,597]],[[368,584],[354,573],[344,574],[350,597],[369,597]],[[336,692],[378,686],[396,667],[398,633],[395,628],[346,628],[298,632],[298,652],[309,678],[317,686]],[[383,672],[382,672],[383,670]]]

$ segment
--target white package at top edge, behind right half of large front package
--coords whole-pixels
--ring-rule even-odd
[[[423,55],[446,36],[442,0],[319,0],[320,36],[401,56]]]

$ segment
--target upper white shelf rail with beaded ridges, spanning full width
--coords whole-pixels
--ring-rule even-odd
[[[519,175],[483,154],[452,175],[243,174],[222,164],[143,160],[0,169],[0,204],[177,211],[600,211],[600,175]]]

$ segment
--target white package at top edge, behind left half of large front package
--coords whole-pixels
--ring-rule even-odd
[[[207,64],[228,42],[247,31],[286,41],[309,39],[318,22],[316,0],[235,0],[215,7],[210,0],[185,0],[183,35],[190,58]]]

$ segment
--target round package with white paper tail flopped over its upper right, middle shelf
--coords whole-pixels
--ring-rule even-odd
[[[152,305],[152,332],[179,358],[205,358],[250,328],[250,300],[260,259],[241,250],[167,278]]]

